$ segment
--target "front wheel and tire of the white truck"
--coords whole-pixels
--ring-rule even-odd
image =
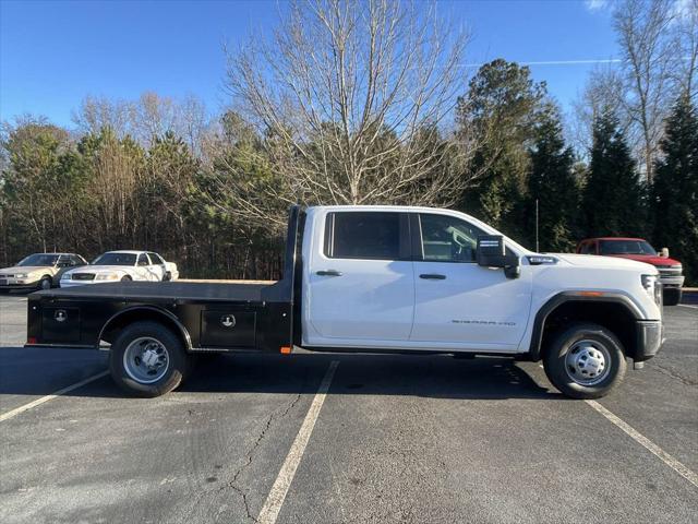
[[[627,368],[621,341],[592,323],[571,324],[555,336],[545,348],[543,365],[547,379],[564,395],[583,400],[609,394]]]

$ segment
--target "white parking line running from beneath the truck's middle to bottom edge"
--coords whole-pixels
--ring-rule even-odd
[[[313,428],[315,427],[315,420],[317,420],[320,410],[323,407],[325,396],[327,395],[327,391],[329,390],[329,384],[332,383],[332,379],[335,376],[337,366],[339,366],[339,361],[333,360],[329,365],[329,368],[327,368],[327,371],[325,372],[325,377],[323,378],[323,381],[317,389],[317,393],[315,393],[315,398],[313,398],[313,403],[308,410],[308,415],[305,415],[303,425],[298,431],[296,440],[293,441],[288,455],[286,455],[286,461],[284,461],[284,465],[281,466],[281,469],[276,477],[274,486],[272,486],[272,491],[269,491],[269,495],[267,496],[266,501],[262,507],[262,511],[260,512],[260,516],[256,521],[258,524],[275,524],[276,519],[279,515],[279,511],[281,511],[281,505],[284,505],[286,493],[288,493],[288,488],[293,481],[296,469],[298,469],[298,465],[303,457],[305,446],[308,445],[310,436],[313,432]]]

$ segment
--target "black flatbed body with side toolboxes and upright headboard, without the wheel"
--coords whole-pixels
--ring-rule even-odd
[[[33,293],[26,346],[99,348],[134,322],[156,322],[178,334],[188,352],[290,347],[300,340],[294,297],[302,219],[292,206],[280,281],[115,282]]]

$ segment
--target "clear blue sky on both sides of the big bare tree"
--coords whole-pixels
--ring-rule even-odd
[[[566,108],[592,63],[617,56],[604,0],[438,2],[472,32],[468,62],[533,62],[535,80]],[[224,41],[274,27],[284,2],[0,0],[0,119],[31,112],[71,126],[86,95],[195,94],[217,110]],[[535,62],[556,62],[543,64]],[[557,63],[566,62],[566,63]]]

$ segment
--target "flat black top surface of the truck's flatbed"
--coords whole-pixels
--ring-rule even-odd
[[[269,293],[277,282],[118,282],[89,284],[37,291],[41,298],[91,299],[137,301],[205,300],[226,302],[263,302],[269,300]],[[265,293],[266,291],[266,293]]]

